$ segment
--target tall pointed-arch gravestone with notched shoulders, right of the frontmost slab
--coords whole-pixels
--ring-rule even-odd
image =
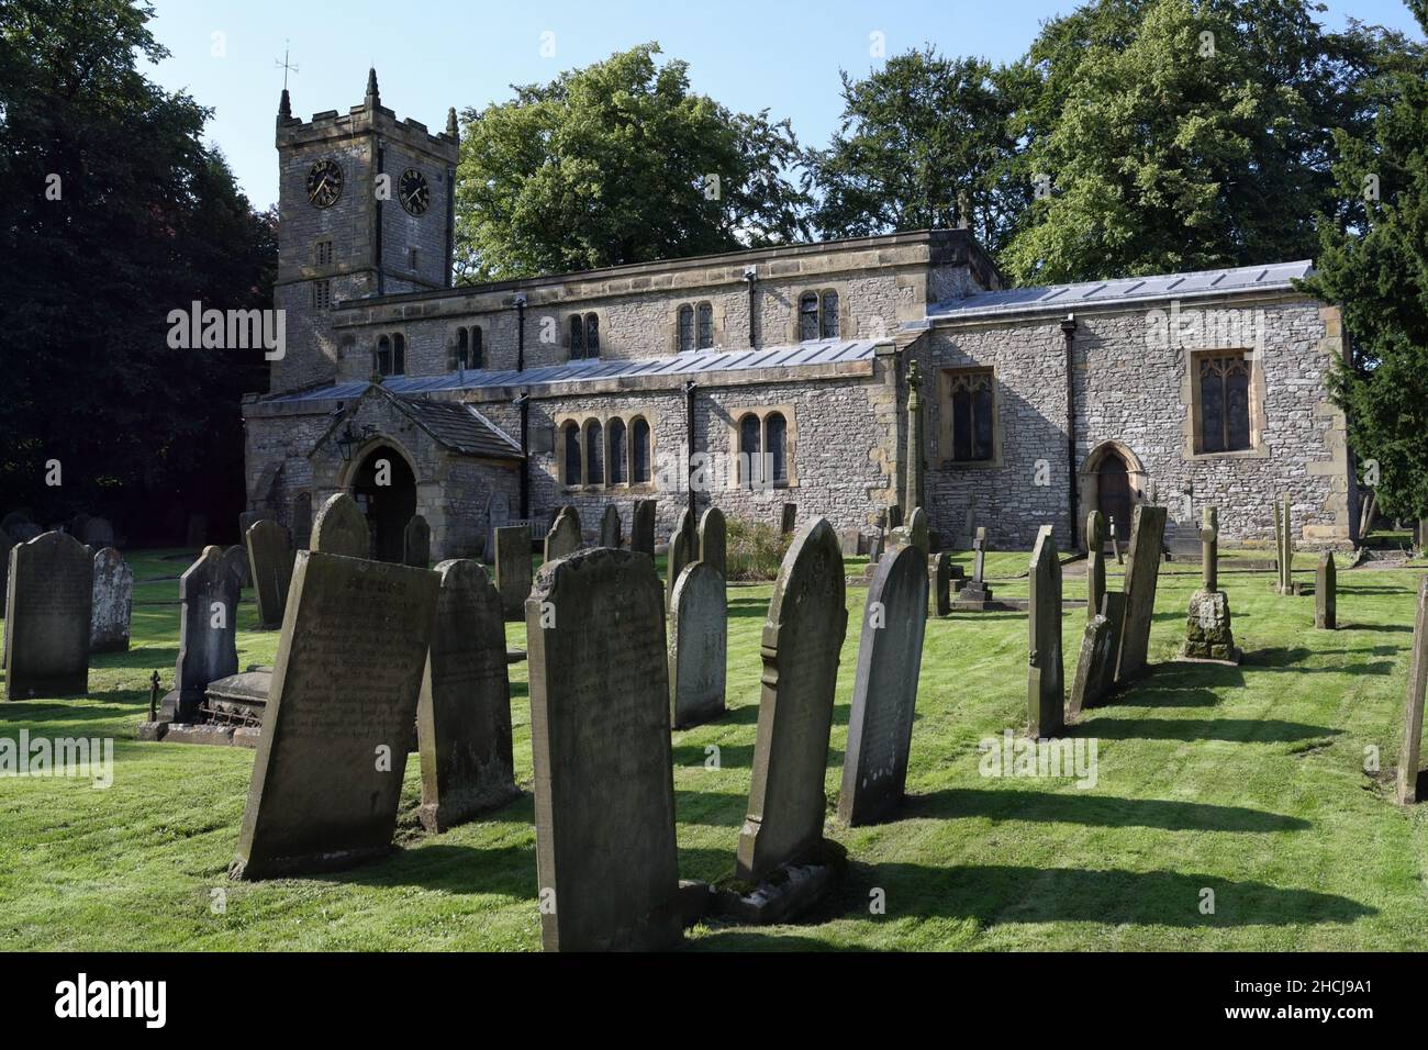
[[[764,621],[763,691],[748,816],[738,836],[738,879],[761,881],[823,844],[828,734],[847,627],[838,537],[818,517],[784,556]]]

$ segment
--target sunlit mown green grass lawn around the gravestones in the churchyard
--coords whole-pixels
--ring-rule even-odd
[[[130,556],[137,603],[173,601],[188,556]],[[1245,554],[1252,563],[1262,551]],[[958,560],[970,566],[970,554]],[[865,560],[850,559],[860,576]],[[1398,753],[1415,571],[1339,571],[1342,629],[1315,631],[1312,597],[1272,573],[1231,571],[1242,667],[1171,666],[1195,564],[1164,566],[1150,677],[1072,731],[1098,741],[1098,783],[990,779],[978,741],[1025,721],[1022,613],[931,620],[901,819],[833,820],[867,591],[848,590],[828,754],[827,833],[851,867],[835,901],[798,926],[691,931],[698,949],[1418,949],[1428,947],[1428,806],[1405,813],[1382,769]],[[1301,554],[1299,579],[1314,559]],[[1025,597],[1025,553],[988,557],[998,596]],[[160,579],[170,577],[170,579]],[[1120,586],[1111,566],[1112,586]],[[1067,597],[1084,574],[1068,569]],[[733,869],[750,784],[758,643],[770,586],[730,587],[728,714],[674,734],[680,869]],[[251,597],[246,594],[246,597]],[[1067,680],[1085,611],[1064,616]],[[276,631],[238,619],[240,666],[271,663]],[[7,949],[516,949],[540,946],[530,707],[511,667],[518,801],[444,836],[423,833],[407,764],[390,859],[318,879],[230,883],[253,753],[141,744],[147,679],[173,679],[176,604],[136,604],[134,647],[96,657],[84,700],[0,701],[0,734],[114,737],[114,783],[0,781],[0,946]],[[510,624],[524,647],[526,629]],[[720,767],[707,769],[718,747]],[[211,907],[226,890],[226,909]],[[874,889],[885,914],[870,914]],[[1201,911],[1214,890],[1214,914]]]

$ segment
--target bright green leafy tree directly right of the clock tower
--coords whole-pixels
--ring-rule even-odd
[[[807,237],[788,121],[691,93],[685,63],[658,53],[643,44],[463,113],[458,280]]]

